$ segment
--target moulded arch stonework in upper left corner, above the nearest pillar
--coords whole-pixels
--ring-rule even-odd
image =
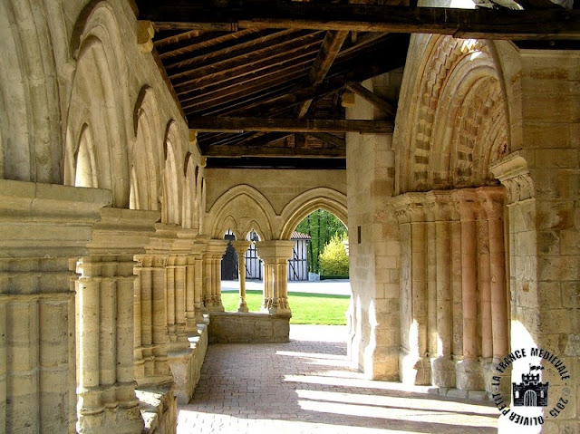
[[[63,182],[53,32],[40,0],[0,3],[0,178]]]

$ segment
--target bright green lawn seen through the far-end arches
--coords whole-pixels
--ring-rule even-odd
[[[291,324],[346,325],[346,309],[350,295],[291,293],[288,304],[292,310]],[[221,301],[229,312],[237,311],[239,294],[228,291],[221,293]],[[247,308],[258,312],[262,305],[262,291],[247,290]]]

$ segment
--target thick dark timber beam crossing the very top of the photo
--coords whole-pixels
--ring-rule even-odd
[[[140,2],[140,19],[156,30],[314,29],[449,34],[505,40],[578,40],[580,11],[565,9],[453,9],[237,0]]]

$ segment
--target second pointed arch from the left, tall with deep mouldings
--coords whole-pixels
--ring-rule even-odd
[[[88,5],[80,16],[71,43],[77,68],[66,119],[65,183],[75,178],[70,158],[82,125],[98,126],[100,133],[93,136],[98,187],[111,189],[113,207],[129,207],[128,148],[133,133],[125,121],[131,108],[121,31],[107,2]]]

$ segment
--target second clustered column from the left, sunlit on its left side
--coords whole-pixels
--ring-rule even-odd
[[[159,213],[103,208],[90,256],[77,263],[79,433],[143,428],[133,361],[133,256],[144,252]]]

